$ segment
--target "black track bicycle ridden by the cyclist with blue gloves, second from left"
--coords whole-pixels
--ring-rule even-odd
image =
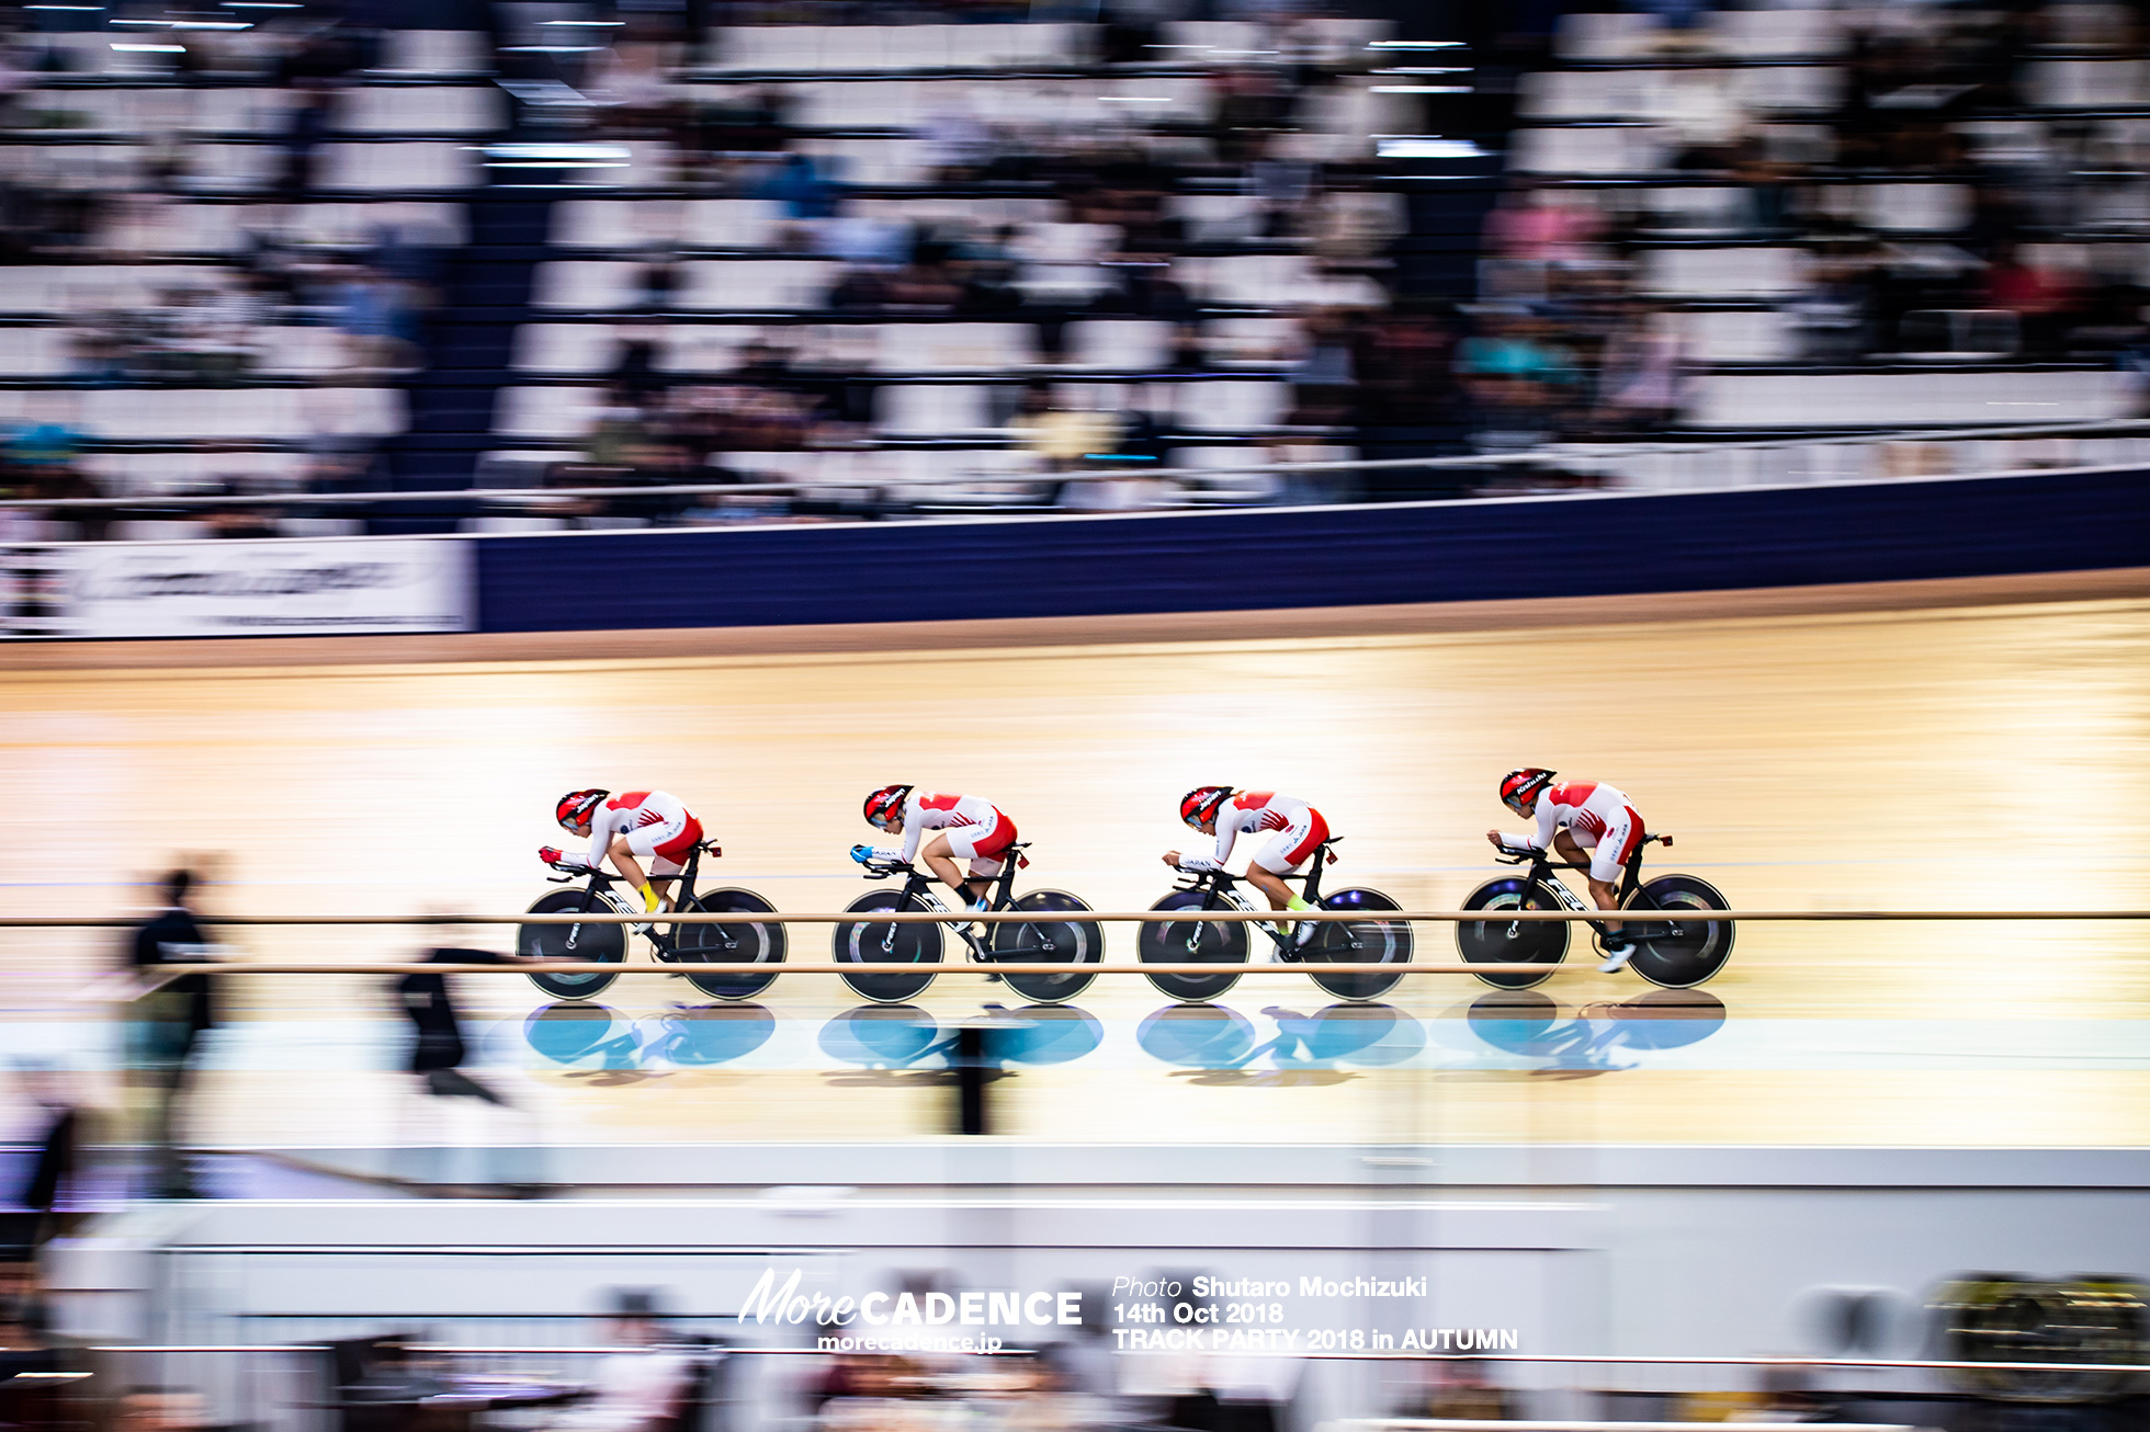
[[[1030,858],[1023,856],[1028,847],[1030,843],[1023,841],[1019,845],[1010,845],[1002,856],[1000,875],[993,877],[987,910],[1036,914],[1041,916],[1038,920],[993,920],[980,937],[972,933],[972,922],[963,918],[968,912],[950,912],[942,905],[940,897],[933,894],[937,882],[905,860],[862,860],[860,864],[866,867],[866,879],[903,875],[903,888],[869,890],[845,905],[845,910],[929,910],[948,914],[950,918],[946,925],[955,931],[957,940],[963,942],[972,963],[991,965],[995,961],[1021,961],[1038,965],[1094,965],[1105,957],[1105,929],[1096,920],[1054,918],[1088,912],[1090,905],[1066,890],[1030,890],[1026,894],[1015,894],[1015,871],[1030,867]],[[856,925],[838,925],[834,946],[838,965],[937,965],[942,959],[942,922],[918,920],[899,925],[894,920],[860,920]],[[933,970],[905,970],[903,974],[843,974],[841,978],[864,1000],[873,1000],[875,1004],[901,1004],[916,998],[927,985],[931,985],[933,974]],[[1096,976],[1004,974],[1000,978],[1008,983],[1008,989],[1023,996],[1032,1004],[1058,1004],[1060,1000],[1073,1000],[1079,996]]]

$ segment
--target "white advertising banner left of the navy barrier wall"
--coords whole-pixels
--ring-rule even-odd
[[[11,548],[9,636],[467,632],[469,544],[441,538]]]

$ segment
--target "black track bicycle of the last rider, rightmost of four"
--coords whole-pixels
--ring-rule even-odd
[[[1692,989],[1701,985],[1733,957],[1733,922],[1709,920],[1694,912],[1731,910],[1716,886],[1694,875],[1658,875],[1643,879],[1643,849],[1651,843],[1671,845],[1673,836],[1647,834],[1636,841],[1634,854],[1621,869],[1621,910],[1664,912],[1658,920],[1623,918],[1621,927],[1634,940],[1634,955],[1628,968],[1651,985],[1664,989]],[[1574,860],[1554,860],[1552,851],[1514,849],[1503,845],[1501,864],[1531,864],[1529,875],[1488,879],[1471,892],[1464,910],[1595,910],[1580,894],[1567,888],[1557,871],[1587,871]],[[1604,925],[1587,920],[1602,940]],[[1565,920],[1460,920],[1456,925],[1456,948],[1464,963],[1505,965],[1533,963],[1557,965],[1567,957]],[[1529,989],[1552,978],[1552,970],[1516,970],[1499,974],[1475,972],[1494,989]]]

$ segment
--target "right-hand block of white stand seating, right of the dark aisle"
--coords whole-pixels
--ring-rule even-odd
[[[1593,441],[2133,415],[2139,47],[2109,4],[1565,15],[1481,264],[1481,439],[1503,404]]]

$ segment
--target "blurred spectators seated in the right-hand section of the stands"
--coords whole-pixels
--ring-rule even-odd
[[[2144,52],[2139,11],[1823,11],[1834,49],[1787,101],[1714,58],[1711,6],[1640,9],[1664,13],[1617,60],[1636,84],[1602,92],[1651,123],[1632,159],[1649,176],[1511,151],[1535,172],[1488,219],[1456,353],[1481,441],[1658,430],[1714,361],[2144,368],[2146,151],[2107,110],[2150,95],[2068,92],[2111,86]],[[1576,105],[1557,84],[1574,73],[1535,75],[1544,110]],[[1681,249],[1720,260],[1718,292],[1666,275]]]

